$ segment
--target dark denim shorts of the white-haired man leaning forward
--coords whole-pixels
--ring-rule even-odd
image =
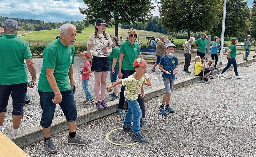
[[[44,128],[48,128],[52,125],[52,120],[57,104],[53,103],[54,92],[42,92],[38,90],[40,95],[40,105],[43,110],[40,125]],[[76,106],[73,95],[73,90],[69,89],[60,92],[62,95],[62,102],[59,104],[64,115],[66,116],[67,122],[76,120]]]

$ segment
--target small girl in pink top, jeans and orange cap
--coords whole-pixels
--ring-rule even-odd
[[[90,92],[88,88],[88,81],[91,77],[91,64],[89,62],[90,56],[87,53],[87,51],[80,52],[82,54],[82,60],[85,61],[83,69],[81,69],[80,74],[82,74],[82,83],[83,83],[83,89],[85,91],[86,99],[84,99],[82,102],[85,104],[93,104],[94,100],[92,97],[92,93]]]

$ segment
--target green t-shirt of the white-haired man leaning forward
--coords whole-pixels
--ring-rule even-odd
[[[60,91],[71,89],[68,72],[75,60],[75,47],[65,46],[60,39],[50,42],[43,50],[43,65],[38,81],[38,90],[42,92],[53,92],[47,78],[46,68],[54,69],[54,78]]]

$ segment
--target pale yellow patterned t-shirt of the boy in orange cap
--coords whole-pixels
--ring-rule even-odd
[[[130,101],[138,99],[138,92],[142,86],[142,83],[146,82],[145,75],[142,75],[141,79],[136,80],[133,76],[134,74],[122,80],[122,84],[125,86],[124,96]]]

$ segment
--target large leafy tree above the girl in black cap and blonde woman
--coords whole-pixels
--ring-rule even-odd
[[[85,15],[86,25],[95,24],[97,18],[105,19],[106,23],[115,26],[118,37],[118,24],[136,24],[146,22],[154,10],[152,0],[83,0],[87,8],[79,8]]]

